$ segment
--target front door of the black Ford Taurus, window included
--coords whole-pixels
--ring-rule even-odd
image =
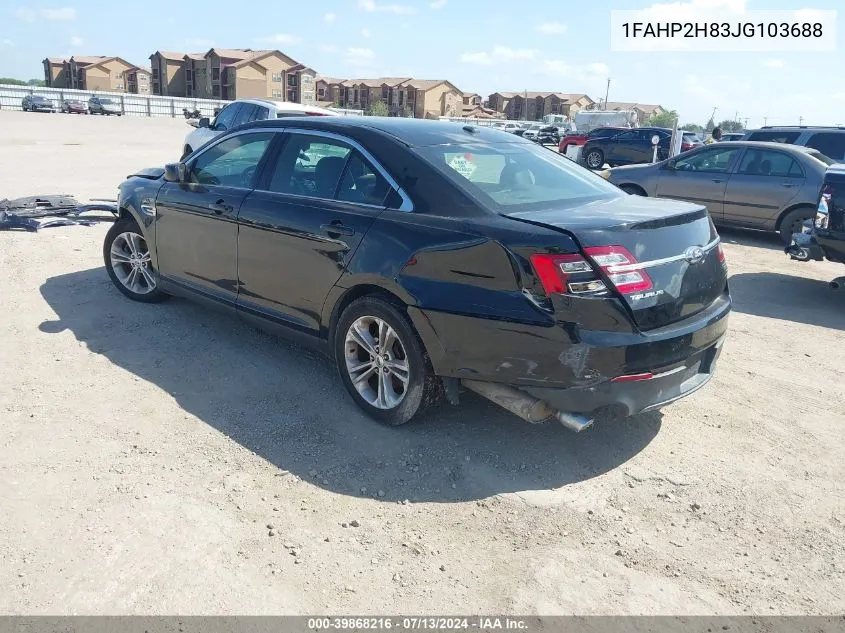
[[[210,299],[237,296],[237,216],[273,134],[236,134],[187,165],[187,182],[168,182],[156,198],[156,250],[165,280]]]

